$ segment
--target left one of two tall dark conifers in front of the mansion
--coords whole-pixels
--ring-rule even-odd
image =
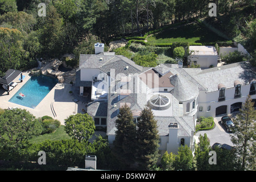
[[[126,104],[119,109],[115,125],[117,131],[115,131],[113,152],[121,162],[121,167],[127,169],[135,162],[136,127],[130,107]]]

